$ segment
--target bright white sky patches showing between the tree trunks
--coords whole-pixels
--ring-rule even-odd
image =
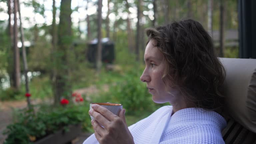
[[[22,26],[24,28],[29,28],[33,25],[35,25],[35,23],[37,24],[43,24],[46,23],[47,25],[51,25],[52,24],[52,0],[37,0],[37,2],[39,2],[41,5],[44,5],[45,7],[45,12],[44,15],[45,17],[43,17],[42,15],[40,15],[39,13],[34,13],[34,8],[33,7],[26,7],[23,2],[29,2],[30,0],[20,0],[20,7],[21,7],[21,19],[22,19]],[[78,25],[79,19],[80,21],[84,21],[86,18],[86,14],[88,13],[88,15],[92,15],[95,14],[97,12],[97,5],[93,5],[93,2],[95,3],[96,0],[91,0],[92,2],[88,3],[88,11],[85,10],[86,8],[86,4],[87,1],[85,0],[72,0],[71,1],[71,8],[75,9],[78,5],[79,5],[79,9],[78,12],[74,11],[71,14],[71,18],[72,18],[72,23],[74,26]],[[56,7],[60,7],[60,2],[61,0],[55,0],[55,6]],[[128,0],[129,3],[133,3],[134,0]],[[107,16],[107,0],[102,0],[102,18],[105,19]],[[110,2],[110,10],[113,9],[114,4]],[[0,7],[3,8],[6,12],[0,12],[0,20],[2,21],[7,21],[9,16],[7,14],[7,3],[5,2],[0,2]],[[152,8],[153,5],[149,5],[149,8]],[[137,22],[137,8],[136,7],[130,7],[129,11],[131,12],[130,18],[133,20],[133,26],[135,27],[136,22]],[[60,10],[57,9],[56,12],[56,23],[59,23],[59,13]],[[149,15],[149,18],[153,18],[153,11],[144,11],[143,12],[146,15]],[[109,19],[110,19],[110,25],[113,24],[115,19],[127,19],[128,17],[128,13],[127,12],[119,12],[118,15],[115,15],[114,13],[110,13],[109,15]],[[29,19],[29,20],[26,20]],[[12,21],[12,24],[14,22]],[[19,25],[19,22],[18,22]],[[80,29],[81,31],[86,30],[86,22],[81,22],[80,25]]]

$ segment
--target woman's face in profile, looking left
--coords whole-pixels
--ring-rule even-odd
[[[153,45],[154,40],[150,40],[146,46],[144,53],[144,60],[146,67],[140,77],[142,82],[147,83],[149,93],[152,94],[152,99],[156,103],[177,102],[180,92],[174,87],[170,86],[171,81],[166,80],[165,85],[162,76],[165,67],[167,66],[163,54]]]

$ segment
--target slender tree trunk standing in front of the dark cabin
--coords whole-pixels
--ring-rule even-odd
[[[101,8],[102,8],[102,0],[98,0],[98,44],[97,44],[97,72],[100,72],[101,69],[101,57],[102,57],[102,47],[101,47]]]

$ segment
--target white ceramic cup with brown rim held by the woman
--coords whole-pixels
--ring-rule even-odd
[[[90,103],[90,110],[92,110],[92,105],[93,104],[98,104],[106,109],[108,109],[109,111],[111,111],[113,114],[117,115],[119,114],[119,112],[123,109],[123,105],[122,104],[115,104],[115,103]],[[94,120],[94,117],[90,116],[92,120]]]

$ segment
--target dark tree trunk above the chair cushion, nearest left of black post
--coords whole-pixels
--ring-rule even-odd
[[[225,18],[226,18],[226,2],[225,2],[225,0],[220,0],[220,53],[219,53],[219,57],[224,57]]]

